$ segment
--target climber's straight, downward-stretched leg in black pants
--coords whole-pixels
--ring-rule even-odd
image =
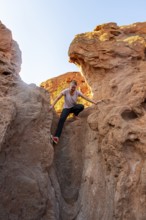
[[[62,110],[62,113],[60,115],[60,119],[59,119],[59,122],[58,122],[57,130],[56,130],[56,133],[55,133],[55,137],[58,137],[58,138],[60,137],[60,135],[62,133],[64,122],[65,122],[67,116],[69,115],[69,113],[70,113],[69,108],[64,108]]]

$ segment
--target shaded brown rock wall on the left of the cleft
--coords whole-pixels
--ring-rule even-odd
[[[20,55],[0,24],[0,219],[46,220],[57,206],[48,176],[52,113],[48,93],[20,80]]]

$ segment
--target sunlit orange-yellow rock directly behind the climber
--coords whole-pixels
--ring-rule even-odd
[[[84,95],[88,96],[89,98],[92,98],[91,88],[86,83],[85,78],[79,72],[68,72],[60,76],[48,79],[47,81],[42,82],[40,86],[50,93],[50,101],[52,103],[63,89],[69,87],[69,84],[72,80],[77,81],[78,90],[80,90]],[[81,98],[78,99],[78,102],[83,104],[85,107],[91,106],[91,103]],[[55,105],[55,110],[57,113],[60,113],[62,111],[63,104],[64,98],[62,97]]]

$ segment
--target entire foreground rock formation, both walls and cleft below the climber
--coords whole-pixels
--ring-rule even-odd
[[[4,29],[0,219],[145,220],[146,23],[108,23],[75,37],[70,61],[105,102],[67,120],[57,146],[48,92],[21,81],[20,51]]]

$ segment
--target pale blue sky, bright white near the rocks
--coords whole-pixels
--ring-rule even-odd
[[[79,71],[68,62],[68,48],[76,34],[107,22],[144,22],[146,0],[0,0],[0,20],[22,51],[22,80],[40,85]]]

